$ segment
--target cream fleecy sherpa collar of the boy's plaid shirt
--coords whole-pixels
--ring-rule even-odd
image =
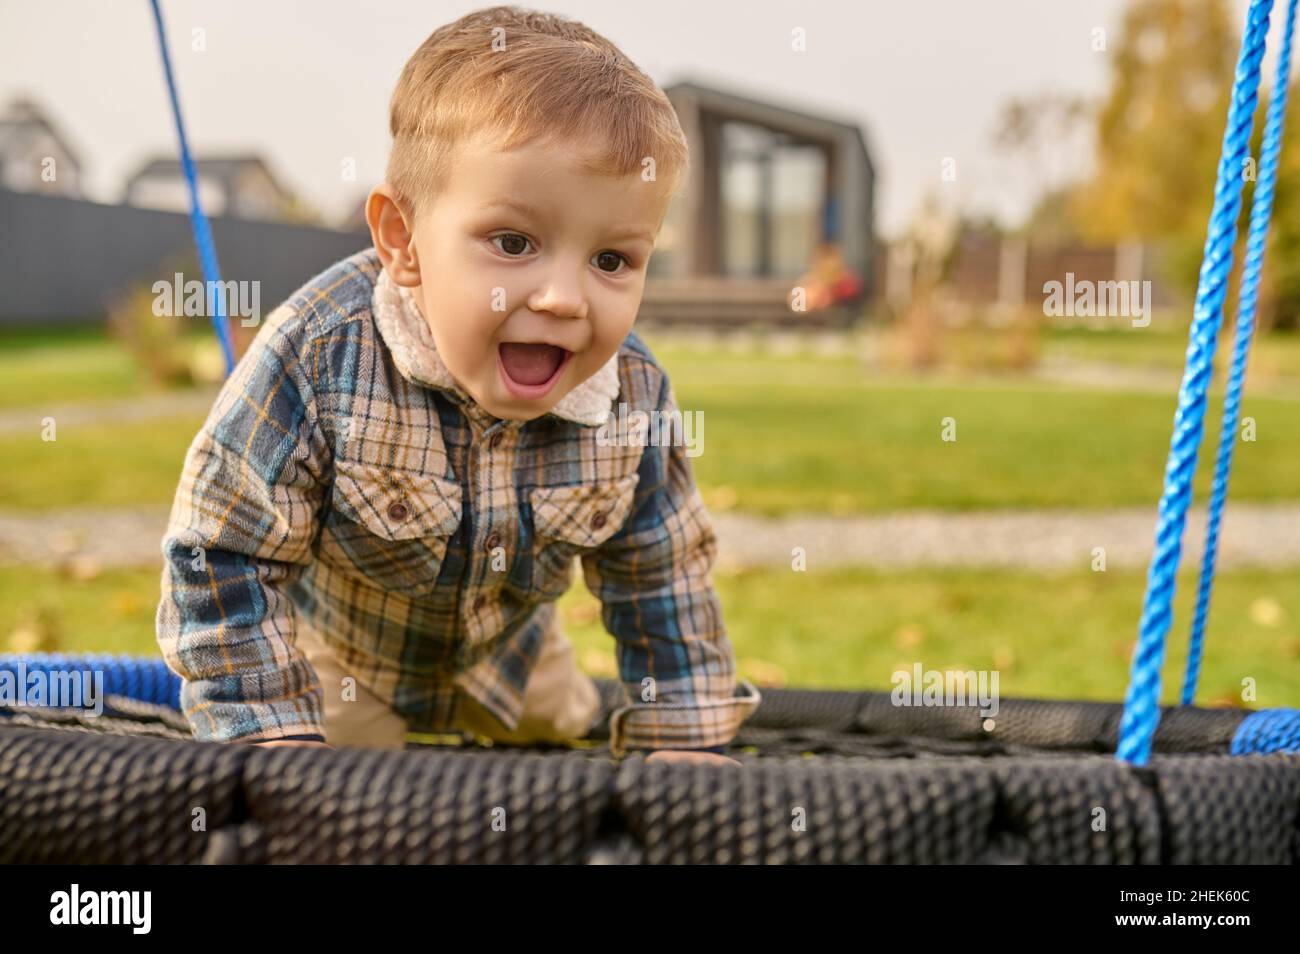
[[[403,377],[426,387],[452,391],[467,403],[474,403],[443,364],[411,291],[389,278],[386,269],[380,269],[370,311]],[[615,352],[595,374],[560,398],[547,413],[594,428],[608,421],[610,406],[618,396],[619,355]]]

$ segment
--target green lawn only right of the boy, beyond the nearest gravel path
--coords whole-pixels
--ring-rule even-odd
[[[705,450],[693,465],[715,507],[1113,507],[1160,496],[1173,393],[880,377],[852,357],[685,348],[659,356],[679,404],[705,412]],[[1212,420],[1219,408],[1210,402]],[[1247,395],[1243,415],[1254,419],[1256,441],[1238,445],[1234,499],[1300,494],[1297,409]],[[941,439],[946,417],[956,421],[953,442]],[[1208,490],[1210,458],[1201,455],[1199,493]]]

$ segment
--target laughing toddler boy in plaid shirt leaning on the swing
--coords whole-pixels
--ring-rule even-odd
[[[677,412],[632,331],[672,107],[581,23],[498,6],[425,40],[390,120],[373,248],[268,316],[186,458],[157,638],[195,736],[581,737],[578,558],[630,694],[614,753],[729,762],[758,694],[685,448],[610,430],[616,402]]]

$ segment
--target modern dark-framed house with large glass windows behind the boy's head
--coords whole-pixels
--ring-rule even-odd
[[[826,244],[872,291],[875,166],[861,126],[697,82],[664,92],[690,175],[651,260],[644,318],[800,321],[792,285]]]

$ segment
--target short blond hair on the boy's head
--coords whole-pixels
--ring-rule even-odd
[[[480,131],[503,149],[595,142],[585,172],[653,168],[668,194],[688,166],[681,123],[653,79],[582,23],[517,6],[467,13],[421,43],[393,92],[389,129],[387,181],[412,211],[445,185],[456,144]]]

